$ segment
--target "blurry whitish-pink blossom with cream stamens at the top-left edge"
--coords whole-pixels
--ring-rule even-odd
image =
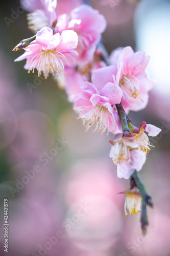
[[[45,26],[52,28],[57,22],[56,7],[57,0],[41,0],[41,9],[27,14],[29,29],[38,31]]]

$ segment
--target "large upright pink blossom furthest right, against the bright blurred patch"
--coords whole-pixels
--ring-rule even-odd
[[[111,54],[110,63],[115,68],[112,75],[123,90],[121,103],[126,112],[139,111],[148,104],[148,92],[155,84],[145,72],[149,60],[145,51],[134,53],[130,46],[118,48]]]

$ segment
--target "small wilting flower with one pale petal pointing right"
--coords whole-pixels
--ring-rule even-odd
[[[131,124],[131,132],[135,136],[135,143],[139,145],[141,151],[148,155],[149,151],[151,150],[150,146],[153,145],[150,145],[150,140],[147,134],[144,133],[145,131],[148,133],[149,136],[155,137],[161,132],[161,129],[156,127],[155,125],[146,124],[144,121],[140,124],[139,128]]]

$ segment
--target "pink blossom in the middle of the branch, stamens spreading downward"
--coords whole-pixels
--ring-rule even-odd
[[[74,109],[83,119],[83,125],[87,122],[86,131],[95,124],[94,132],[118,133],[122,128],[112,105],[120,102],[121,98],[122,90],[114,83],[106,83],[98,90],[95,83],[84,82],[82,93],[74,97]]]

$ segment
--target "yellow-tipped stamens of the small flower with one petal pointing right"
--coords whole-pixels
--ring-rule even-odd
[[[139,133],[138,135],[135,136],[135,142],[136,144],[139,145],[140,150],[143,151],[148,156],[149,151],[151,150],[150,146],[153,146],[153,145],[150,144],[147,134]]]

